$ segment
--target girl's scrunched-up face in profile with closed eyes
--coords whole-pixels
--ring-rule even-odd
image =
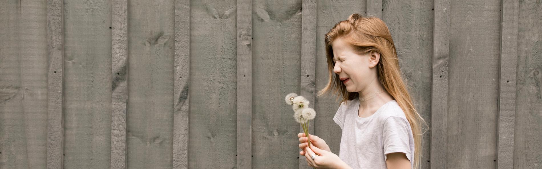
[[[354,52],[352,47],[339,38],[332,44],[333,49],[333,72],[337,73],[340,80],[349,92],[360,92],[376,79],[376,69],[371,69],[378,64],[380,57],[378,52],[371,51],[364,55]]]

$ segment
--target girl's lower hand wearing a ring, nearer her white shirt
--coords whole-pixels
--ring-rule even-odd
[[[343,160],[341,160],[339,156],[332,152],[321,150],[316,146],[311,146],[311,148],[308,146],[305,147],[305,152],[305,160],[307,160],[309,166],[315,168],[339,168],[345,166]],[[314,160],[312,160],[312,155],[318,156],[315,156]]]

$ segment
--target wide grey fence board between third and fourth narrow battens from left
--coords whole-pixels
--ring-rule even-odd
[[[236,2],[192,1],[190,10],[188,168],[234,168]]]

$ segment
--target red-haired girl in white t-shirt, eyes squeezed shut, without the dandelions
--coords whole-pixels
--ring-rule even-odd
[[[342,96],[333,118],[343,131],[340,152],[333,154],[313,135],[308,148],[299,133],[299,153],[317,168],[418,168],[425,122],[401,78],[388,26],[355,13],[335,24],[325,40],[330,78],[318,96]]]

